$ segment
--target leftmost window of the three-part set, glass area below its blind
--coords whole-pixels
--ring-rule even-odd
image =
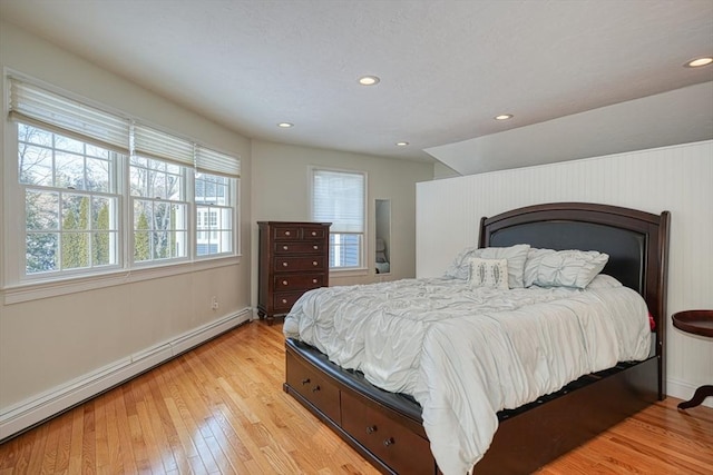
[[[18,125],[26,275],[117,264],[116,159],[107,149]]]

